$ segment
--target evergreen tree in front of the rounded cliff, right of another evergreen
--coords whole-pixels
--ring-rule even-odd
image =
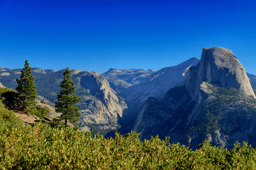
[[[71,123],[75,123],[79,120],[80,113],[78,112],[78,103],[81,98],[75,95],[75,84],[71,80],[70,70],[65,69],[63,73],[64,79],[60,83],[60,94],[58,94],[58,101],[55,102],[55,111],[62,113],[60,115],[60,120],[65,120],[65,127],[68,125],[68,120]]]

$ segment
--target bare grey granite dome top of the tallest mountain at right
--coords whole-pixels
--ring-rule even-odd
[[[200,64],[188,74],[186,89],[192,96],[198,96],[203,81],[233,87],[255,98],[244,67],[233,52],[223,47],[203,48]]]

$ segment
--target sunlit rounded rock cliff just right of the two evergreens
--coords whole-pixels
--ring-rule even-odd
[[[80,72],[73,75],[79,96],[80,121],[78,125],[97,125],[98,130],[119,128],[118,118],[127,108],[126,103],[110,88],[108,81],[95,72]],[[81,93],[81,91],[85,91]]]

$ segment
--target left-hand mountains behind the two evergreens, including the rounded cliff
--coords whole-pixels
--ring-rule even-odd
[[[35,78],[38,98],[46,98],[51,106],[56,101],[63,80],[63,70],[43,70],[32,68]],[[20,77],[21,69],[0,69],[0,81],[4,86],[15,89],[16,79]],[[71,70],[71,78],[75,82],[76,93],[82,97],[79,125],[82,130],[94,130],[105,134],[119,128],[117,120],[122,117],[122,111],[127,108],[124,100],[110,88],[108,81],[95,72]],[[40,97],[41,96],[41,97]]]

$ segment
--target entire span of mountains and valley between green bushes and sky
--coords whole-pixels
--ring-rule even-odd
[[[20,70],[1,67],[1,84],[15,89]],[[54,106],[63,72],[32,68],[39,100]],[[256,145],[256,76],[223,47],[204,48],[201,60],[158,71],[72,69],[70,74],[82,98],[80,130],[106,137],[134,130],[141,132],[141,140],[159,135],[193,149],[203,140],[228,148],[235,141]]]

